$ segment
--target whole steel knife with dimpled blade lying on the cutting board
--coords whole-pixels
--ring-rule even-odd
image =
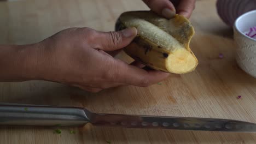
[[[82,107],[0,103],[0,125],[103,127],[256,132],[256,124],[232,119],[94,113]]]

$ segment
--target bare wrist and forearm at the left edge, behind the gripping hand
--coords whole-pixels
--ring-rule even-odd
[[[0,80],[38,80],[38,44],[0,46]]]

